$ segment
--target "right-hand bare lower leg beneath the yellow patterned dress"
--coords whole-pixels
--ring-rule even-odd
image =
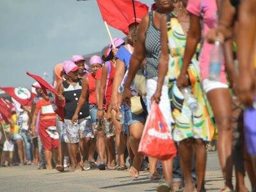
[[[195,165],[196,165],[196,182],[197,191],[204,191],[205,167],[206,167],[206,145],[202,140],[194,141],[195,147]]]

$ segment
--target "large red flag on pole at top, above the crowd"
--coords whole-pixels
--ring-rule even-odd
[[[102,19],[106,20],[109,26],[123,31],[128,34],[128,26],[134,22],[134,11],[131,0],[97,0],[100,8]],[[134,1],[136,21],[141,19],[148,13],[148,6]]]

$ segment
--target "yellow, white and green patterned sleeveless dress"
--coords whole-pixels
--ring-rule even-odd
[[[202,91],[200,69],[195,57],[188,67],[189,85],[192,88],[194,97],[198,101],[198,108],[194,113],[188,108],[186,100],[184,100],[182,93],[177,87],[176,80],[182,68],[186,36],[173,12],[167,16],[167,28],[170,50],[168,87],[172,116],[175,120],[175,124],[172,127],[173,139],[175,141],[182,141],[187,138],[196,138],[211,141],[215,132],[214,120],[209,102]]]

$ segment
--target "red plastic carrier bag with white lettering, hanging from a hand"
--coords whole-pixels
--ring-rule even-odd
[[[154,102],[140,140],[141,154],[157,159],[167,160],[176,155],[172,133],[164,120],[159,106]]]

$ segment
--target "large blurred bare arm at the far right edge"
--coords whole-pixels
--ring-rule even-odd
[[[256,0],[244,0],[239,8],[237,93],[245,106],[252,106],[255,94]]]

